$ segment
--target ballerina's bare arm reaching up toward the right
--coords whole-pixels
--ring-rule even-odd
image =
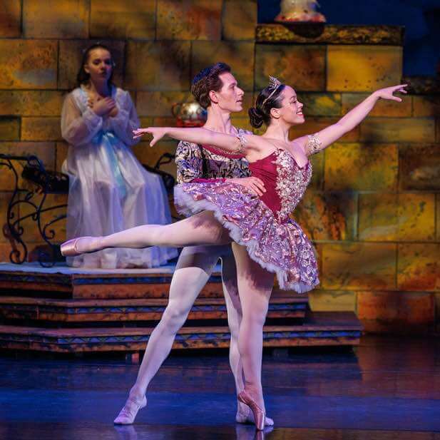
[[[302,145],[307,155],[324,150],[324,148],[327,148],[336,140],[342,138],[344,134],[348,133],[359,123],[361,123],[364,118],[367,117],[368,113],[372,111],[374,105],[377,103],[377,101],[379,101],[379,99],[382,98],[401,102],[401,98],[394,96],[393,93],[407,93],[405,87],[406,84],[400,84],[399,86],[381,88],[364,99],[362,103],[359,103],[343,118],[339,119],[337,123],[324,128],[324,130],[319,131],[316,133],[316,135],[302,136],[301,138],[295,139],[295,141]]]

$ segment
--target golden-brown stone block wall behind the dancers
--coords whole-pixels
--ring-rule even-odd
[[[143,126],[173,124],[170,107],[190,99],[193,75],[226,61],[246,92],[245,108],[268,75],[297,89],[307,118],[292,130],[299,136],[399,83],[402,40],[396,26],[257,26],[256,0],[4,0],[0,152],[34,153],[61,169],[63,97],[81,50],[94,41],[112,48],[116,83],[131,91]],[[319,254],[322,283],[309,295],[312,308],[354,310],[369,332],[440,329],[440,99],[435,81],[410,79],[404,103],[380,102],[313,158],[313,182],[296,213]],[[248,128],[245,112],[234,121]],[[174,149],[173,141],[154,149],[142,142],[135,154],[153,165]],[[11,190],[3,168],[1,225]],[[24,227],[31,249],[40,245],[31,222]],[[61,225],[59,240],[64,235]],[[2,234],[0,260],[10,250]]]

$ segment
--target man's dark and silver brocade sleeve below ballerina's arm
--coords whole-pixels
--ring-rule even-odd
[[[175,150],[178,183],[203,177],[203,157],[199,145],[181,140]]]

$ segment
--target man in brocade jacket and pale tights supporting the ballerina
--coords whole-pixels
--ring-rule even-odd
[[[204,68],[193,79],[191,91],[200,106],[208,111],[205,128],[236,134],[230,113],[242,111],[244,92],[225,63]],[[225,154],[209,145],[180,142],[176,151],[178,183],[213,179],[235,180],[255,195],[265,191],[262,181],[249,176],[247,161],[240,155]],[[200,291],[208,282],[218,260],[222,262],[222,286],[230,327],[230,367],[235,378],[237,394],[244,389],[242,363],[238,352],[238,329],[241,322],[240,299],[237,290],[237,271],[230,245],[184,247],[170,284],[169,302],[159,324],[148,340],[138,377],[131,388],[125,406],[115,419],[116,424],[132,424],[139,409],[146,405],[148,384],[168,357],[178,330],[183,326]],[[252,411],[237,401],[239,423],[253,423]],[[272,419],[267,417],[267,425]]]

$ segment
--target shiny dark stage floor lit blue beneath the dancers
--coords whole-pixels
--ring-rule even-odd
[[[150,385],[147,408],[125,427],[112,421],[137,365],[3,356],[0,369],[1,440],[440,439],[438,339],[368,336],[353,350],[266,353],[263,386],[275,429],[264,436],[235,424],[225,350],[174,352]]]

